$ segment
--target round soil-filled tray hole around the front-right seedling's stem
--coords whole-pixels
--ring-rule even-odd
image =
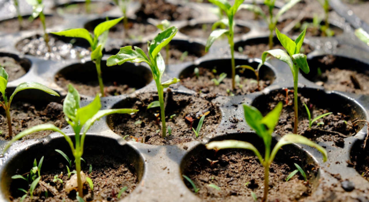
[[[218,136],[211,139],[211,141],[221,140],[249,142],[264,156],[263,141],[255,133],[227,134],[227,136]],[[275,144],[276,139],[273,138],[272,147]],[[210,165],[207,158],[212,161],[218,160],[218,162]],[[295,175],[289,182],[285,181],[287,175],[296,170],[294,163],[300,165],[304,171],[308,171],[307,177],[310,187],[303,185],[303,178],[300,174]],[[197,195],[206,201],[213,199],[215,199],[214,201],[234,201],[234,197],[237,197],[238,201],[253,201],[251,191],[259,197],[263,193],[264,169],[259,164],[255,154],[249,150],[227,149],[215,153],[214,150],[207,150],[205,145],[200,144],[183,157],[180,171],[181,174],[194,181],[197,188],[200,188]],[[283,150],[278,151],[270,168],[269,181],[272,186],[269,191],[269,200],[274,201],[273,198],[278,198],[282,201],[289,201],[289,198],[283,199],[284,197],[296,197],[296,200],[305,198],[317,188],[319,178],[316,163],[308,153],[294,145],[285,145]],[[183,181],[192,190],[192,186],[188,181],[184,178]],[[249,183],[245,186],[247,182]],[[219,186],[221,191],[209,188],[208,184]],[[300,193],[300,188],[307,188],[308,191],[304,192],[302,196],[293,194],[293,192]]]

